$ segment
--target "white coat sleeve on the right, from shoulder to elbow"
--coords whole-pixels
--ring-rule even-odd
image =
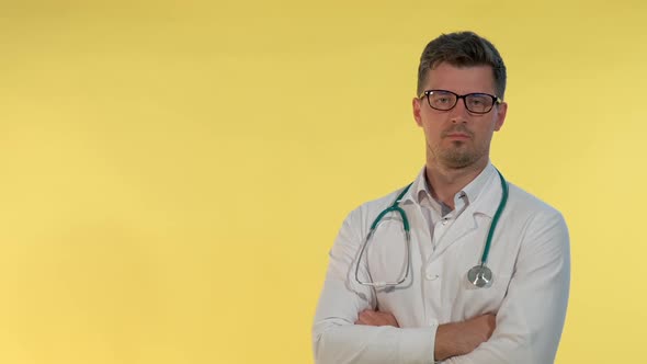
[[[554,363],[570,281],[568,229],[557,212],[526,225],[508,293],[491,338],[446,364]]]

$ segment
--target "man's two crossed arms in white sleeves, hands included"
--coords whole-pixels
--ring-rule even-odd
[[[399,328],[390,312],[374,311],[371,289],[349,289],[347,269],[355,248],[344,242],[356,237],[342,228],[315,319],[316,362],[552,363],[568,299],[568,231],[560,216],[544,216],[537,226],[525,237],[531,243],[519,253],[496,317],[419,328]]]

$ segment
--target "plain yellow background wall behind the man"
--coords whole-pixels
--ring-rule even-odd
[[[490,38],[492,161],[559,208],[557,363],[647,326],[644,1],[0,2],[0,362],[311,363],[344,216],[423,163],[423,46]]]

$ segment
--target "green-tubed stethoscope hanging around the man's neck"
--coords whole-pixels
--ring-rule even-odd
[[[497,173],[499,173],[499,179],[501,180],[501,189],[503,190],[503,193],[501,195],[501,201],[499,202],[499,207],[497,207],[497,212],[495,213],[495,217],[492,218],[492,223],[490,224],[490,228],[488,230],[488,237],[486,239],[486,243],[483,249],[483,254],[480,255],[480,264],[477,264],[477,265],[473,266],[469,271],[467,271],[467,281],[478,288],[489,287],[492,285],[492,281],[493,281],[492,271],[487,266],[486,263],[488,261],[488,254],[490,252],[490,246],[492,243],[492,237],[495,235],[495,229],[497,228],[497,224],[499,224],[499,218],[501,217],[501,213],[503,212],[503,208],[506,207],[506,203],[508,202],[508,182],[506,182],[506,179],[503,179],[503,175],[501,174],[501,172],[499,172],[499,170],[497,170]],[[411,183],[411,184],[413,184],[413,183]],[[409,219],[407,218],[407,214],[399,206],[399,204],[400,204],[400,201],[402,200],[402,197],[405,196],[405,194],[407,193],[407,191],[409,191],[409,187],[411,186],[411,184],[409,184],[398,195],[396,201],[390,206],[388,206],[382,213],[379,213],[379,215],[377,215],[377,217],[375,218],[373,224],[371,224],[371,230],[366,235],[366,239],[364,239],[364,243],[362,244],[362,249],[360,250],[360,255],[357,257],[357,264],[355,266],[355,281],[357,281],[357,283],[360,283],[362,285],[366,285],[366,286],[382,288],[382,287],[400,285],[409,276],[409,269],[410,269],[410,264],[411,264],[411,252],[409,249],[411,246],[411,234],[409,232]],[[405,228],[405,240],[406,240],[406,246],[407,246],[406,247],[407,248],[407,264],[405,266],[405,273],[399,281],[395,281],[395,282],[362,282],[360,280],[360,262],[362,261],[362,255],[364,254],[364,251],[366,250],[366,246],[368,246],[368,241],[375,235],[375,229],[377,228],[377,225],[379,224],[382,218],[386,214],[391,213],[391,212],[396,212],[400,215],[400,217],[402,219],[402,226]],[[368,273],[368,277],[371,277],[371,273]]]

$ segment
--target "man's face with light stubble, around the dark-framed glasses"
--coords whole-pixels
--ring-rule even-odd
[[[491,66],[458,68],[442,62],[428,71],[423,90],[496,95]],[[429,105],[427,96],[413,99],[413,117],[424,130],[429,167],[464,169],[487,164],[492,134],[503,125],[508,105],[496,104],[487,114],[474,114],[463,101],[458,100],[450,111],[439,111]]]

